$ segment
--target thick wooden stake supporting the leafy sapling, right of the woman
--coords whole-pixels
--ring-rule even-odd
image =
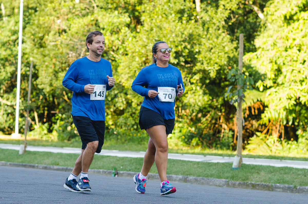
[[[239,74],[242,73],[243,70],[243,55],[244,55],[244,34],[240,34],[240,50],[239,50],[239,58],[238,58],[238,68],[239,68]],[[237,84],[237,90],[242,88],[239,84]],[[243,114],[242,114],[242,98],[238,97],[237,99],[237,150],[236,150],[236,156],[234,158],[233,162],[233,168],[241,167],[242,163],[242,143],[243,143]]]

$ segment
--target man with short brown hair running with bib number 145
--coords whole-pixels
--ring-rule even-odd
[[[105,38],[100,31],[87,35],[89,55],[75,60],[63,78],[63,86],[73,91],[72,118],[82,141],[81,154],[63,185],[73,192],[91,191],[88,169],[94,153],[100,153],[105,134],[105,95],[114,87],[111,64],[101,58]],[[77,182],[77,176],[81,173]]]

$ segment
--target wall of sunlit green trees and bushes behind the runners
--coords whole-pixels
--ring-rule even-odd
[[[5,134],[14,130],[19,2],[3,2],[6,17],[0,14],[0,131]],[[88,55],[85,37],[93,30],[105,35],[103,58],[111,61],[117,81],[105,100],[109,139],[148,140],[138,126],[142,97],[130,85],[138,71],[152,63],[152,45],[158,40],[173,48],[170,63],[180,69],[185,83],[183,97],[176,100],[174,145],[235,148],[236,108],[225,100],[226,92],[247,93],[245,141],[277,118],[304,132],[307,1],[250,3],[265,12],[266,20],[244,0],[201,2],[199,13],[193,1],[182,0],[24,1],[20,132],[33,61],[31,134],[59,140],[78,136],[70,117],[72,92],[62,86],[62,79],[73,61]],[[241,74],[236,68],[239,33],[245,36],[244,53],[249,52]],[[237,81],[242,91],[236,90]],[[248,90],[254,82],[260,92]],[[257,124],[262,113],[263,123]],[[40,125],[35,128],[36,123]]]

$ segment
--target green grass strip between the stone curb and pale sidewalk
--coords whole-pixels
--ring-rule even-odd
[[[59,165],[73,167],[78,154],[51,152],[30,152],[19,155],[17,150],[0,149],[0,161]],[[95,155],[91,169],[113,169],[120,171],[140,171],[143,158],[111,157]],[[121,168],[122,167],[122,168]],[[167,174],[224,178],[232,181],[264,182],[308,186],[308,169],[245,165],[237,170],[232,163],[210,163],[197,161],[168,160]],[[157,173],[155,164],[150,173]]]

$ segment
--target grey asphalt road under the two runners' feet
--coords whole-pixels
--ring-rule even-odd
[[[0,203],[230,203],[307,204],[307,194],[247,190],[172,182],[176,193],[160,195],[159,181],[149,180],[138,194],[132,178],[90,174],[92,191],[74,193],[63,187],[70,172],[0,167]]]

